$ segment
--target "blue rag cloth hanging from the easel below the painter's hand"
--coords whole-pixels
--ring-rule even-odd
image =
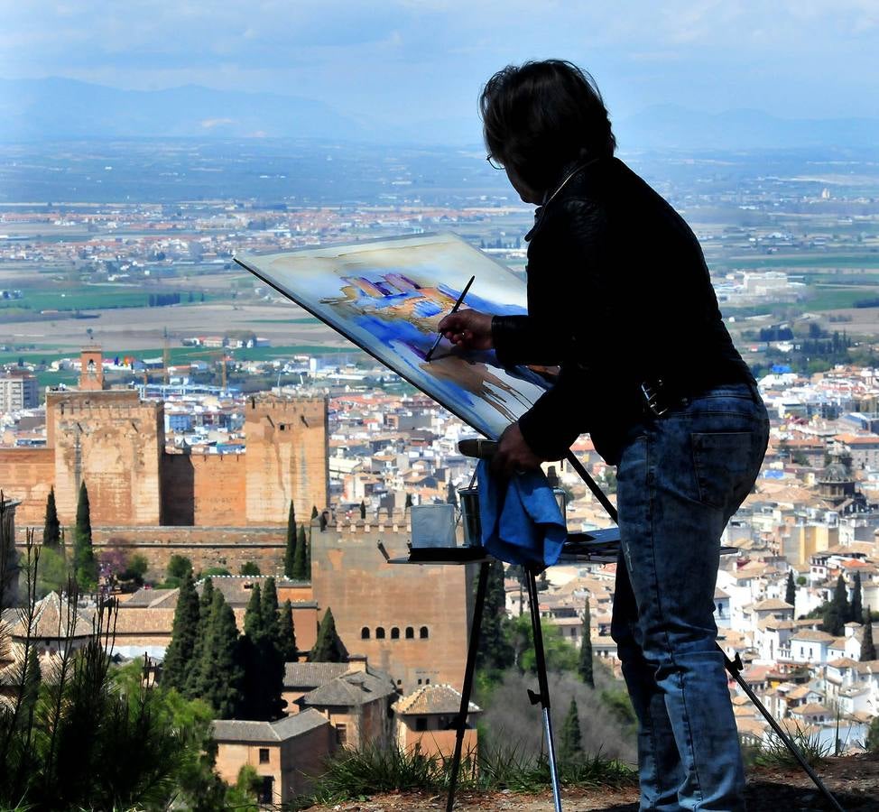
[[[508,564],[551,567],[568,529],[546,475],[537,468],[509,479],[479,461],[479,520],[489,555]]]

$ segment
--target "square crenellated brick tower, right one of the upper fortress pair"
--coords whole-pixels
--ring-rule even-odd
[[[248,524],[299,521],[328,504],[327,400],[254,396],[245,407]]]

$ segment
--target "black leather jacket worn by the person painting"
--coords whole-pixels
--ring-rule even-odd
[[[558,382],[519,421],[541,457],[588,431],[618,462],[643,419],[641,383],[697,394],[753,381],[717,307],[683,218],[616,158],[589,161],[538,208],[526,236],[528,315],[495,317],[504,364],[560,364]]]

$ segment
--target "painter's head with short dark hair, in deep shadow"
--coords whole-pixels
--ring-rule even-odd
[[[571,161],[609,157],[616,148],[595,79],[564,60],[498,70],[479,109],[489,154],[534,189],[560,182]]]

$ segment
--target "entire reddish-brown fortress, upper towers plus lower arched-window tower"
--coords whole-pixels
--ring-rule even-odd
[[[99,348],[83,350],[81,360],[77,389],[47,392],[45,448],[0,448],[0,488],[18,503],[19,546],[26,528],[40,537],[51,487],[62,527],[72,527],[85,482],[97,555],[107,548],[143,555],[153,577],[162,576],[174,553],[190,558],[196,571],[235,573],[253,561],[264,576],[279,577],[279,597],[293,603],[301,648],[314,641],[331,608],[347,650],[386,671],[398,690],[459,687],[471,567],[388,565],[377,542],[392,556],[406,554],[410,535],[402,515],[370,523],[328,512],[323,530],[318,520],[310,528],[310,583],[282,577],[291,501],[298,521],[307,521],[312,507],[328,506],[325,398],[249,398],[244,452],[175,453],[165,448],[162,401],[107,389]],[[152,602],[120,614],[119,646],[167,645],[176,590],[159,594],[167,591],[155,590]],[[243,610],[244,603],[236,607],[239,626]]]

